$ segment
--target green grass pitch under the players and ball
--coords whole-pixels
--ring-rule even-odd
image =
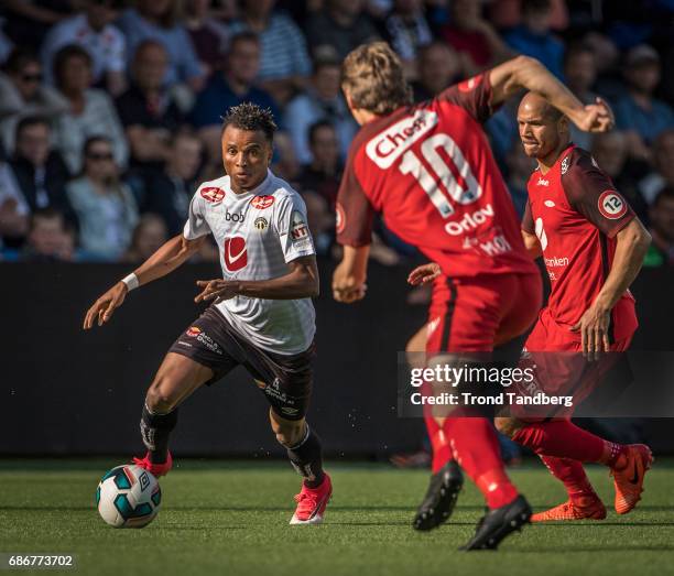
[[[162,511],[143,530],[115,530],[94,492],[115,459],[0,460],[0,552],[75,553],[91,575],[471,575],[674,573],[674,463],[657,461],[639,508],[604,522],[526,526],[499,552],[460,553],[482,512],[467,482],[450,522],[410,528],[427,472],[328,460],[335,492],[318,526],[290,526],[300,479],[283,461],[177,460],[161,480]],[[589,468],[607,507],[612,482]],[[563,489],[539,463],[511,471],[532,506]],[[470,486],[468,486],[470,485]],[[25,570],[23,570],[25,573]]]

